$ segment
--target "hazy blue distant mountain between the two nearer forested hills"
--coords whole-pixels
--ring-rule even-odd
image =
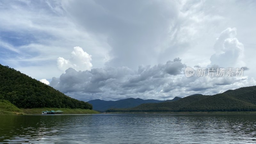
[[[142,100],[140,98],[134,99],[134,98],[128,98],[123,100],[116,100],[116,101],[106,101],[106,100],[90,100],[87,101],[88,103],[92,104],[93,110],[98,110],[100,112],[105,112],[109,108],[132,108],[136,107],[143,103],[159,103],[159,102],[165,102],[165,101],[175,101],[181,99],[180,97],[175,97],[172,100]]]

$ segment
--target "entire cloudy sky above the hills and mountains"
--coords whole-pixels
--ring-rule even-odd
[[[256,85],[255,13],[253,0],[1,0],[0,64],[84,101],[216,94]]]

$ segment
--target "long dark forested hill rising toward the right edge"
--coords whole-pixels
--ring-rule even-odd
[[[134,108],[108,109],[107,112],[197,112],[256,111],[256,86],[228,90],[215,95],[196,94],[173,102],[141,104]]]

